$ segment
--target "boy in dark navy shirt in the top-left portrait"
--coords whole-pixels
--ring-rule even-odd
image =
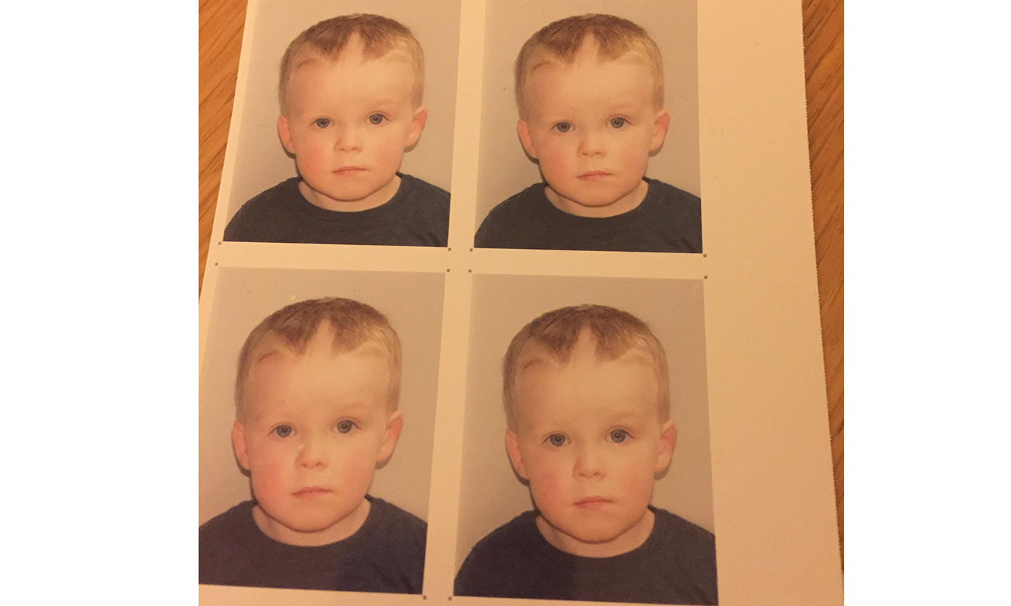
[[[400,23],[320,21],[281,60],[277,132],[298,177],[239,209],[224,239],[445,246],[449,194],[398,173],[428,115],[422,46]]]

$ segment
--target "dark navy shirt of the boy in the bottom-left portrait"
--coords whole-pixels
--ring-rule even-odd
[[[362,527],[320,546],[277,542],[253,521],[247,501],[200,526],[199,582],[386,593],[421,593],[428,524],[382,499]]]

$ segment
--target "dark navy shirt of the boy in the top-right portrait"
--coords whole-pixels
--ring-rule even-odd
[[[538,183],[491,209],[474,236],[485,248],[701,252],[702,202],[672,185],[646,179],[636,208],[611,217],[582,217],[556,208]]]

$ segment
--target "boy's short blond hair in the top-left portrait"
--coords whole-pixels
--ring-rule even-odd
[[[281,58],[281,76],[277,86],[282,114],[287,114],[288,111],[287,87],[291,73],[312,56],[337,61],[356,35],[362,42],[362,56],[365,59],[379,59],[392,50],[403,53],[407,57],[415,72],[415,106],[422,104],[422,93],[425,91],[425,54],[418,39],[405,25],[389,17],[359,13],[319,21],[291,40]]]

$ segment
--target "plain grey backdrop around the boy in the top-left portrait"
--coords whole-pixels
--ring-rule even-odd
[[[309,26],[331,17],[373,13],[410,28],[425,52],[428,121],[418,144],[404,154],[400,172],[449,190],[453,161],[453,124],[460,34],[460,0],[424,3],[411,0],[251,0],[255,1],[249,46],[249,72],[235,135],[235,174],[226,220],[250,198],[297,175],[277,135],[278,70],[288,44]],[[247,59],[247,58],[244,58]],[[243,91],[238,91],[242,95]],[[237,99],[238,101],[238,99]]]

